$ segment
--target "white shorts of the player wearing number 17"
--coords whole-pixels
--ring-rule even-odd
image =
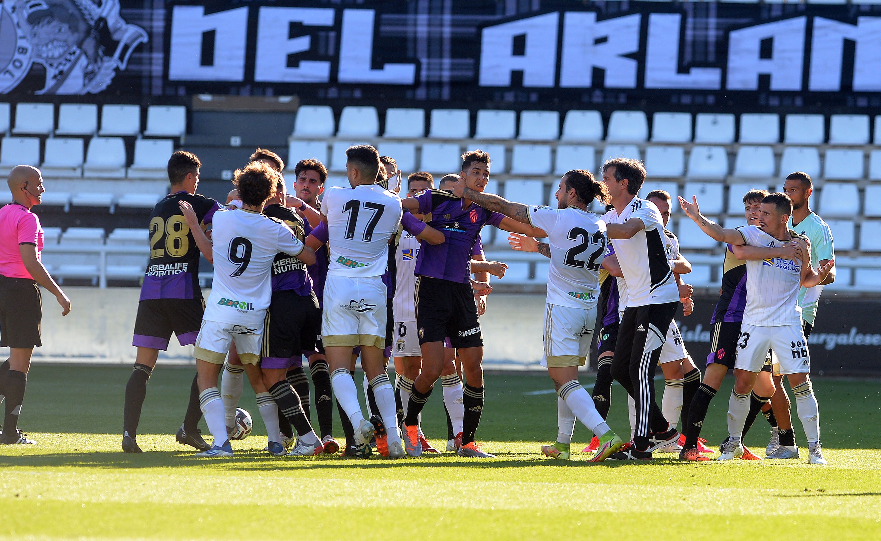
[[[382,277],[330,275],[324,282],[322,345],[385,348],[386,300]]]

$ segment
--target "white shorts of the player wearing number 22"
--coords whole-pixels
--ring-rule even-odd
[[[543,367],[583,367],[594,336],[596,309],[544,305]]]

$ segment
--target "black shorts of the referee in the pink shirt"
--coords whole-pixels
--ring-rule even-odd
[[[0,276],[0,347],[32,349],[43,345],[43,298],[30,278]]]

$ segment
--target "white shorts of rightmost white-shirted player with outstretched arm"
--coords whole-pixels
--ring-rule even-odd
[[[777,374],[808,374],[811,372],[811,358],[808,341],[801,325],[781,325],[778,327],[740,326],[737,339],[737,360],[735,368],[759,372],[765,364],[768,348],[774,351],[779,361]]]

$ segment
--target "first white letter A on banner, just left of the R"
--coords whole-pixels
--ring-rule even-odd
[[[511,71],[522,70],[523,86],[554,85],[557,74],[559,13],[545,13],[495,26],[480,36],[481,86],[510,86]],[[514,54],[514,38],[526,36],[523,55]]]

